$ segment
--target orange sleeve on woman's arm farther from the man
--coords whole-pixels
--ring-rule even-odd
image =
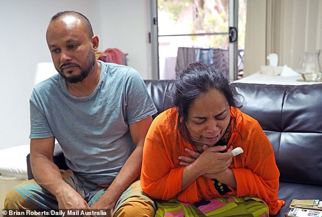
[[[247,124],[249,122],[251,125]],[[257,121],[244,121],[243,128],[248,129],[244,130],[248,133],[241,133],[241,145],[236,141],[235,146],[241,146],[247,154],[242,164],[237,161],[235,168],[232,168],[237,182],[237,196],[259,197],[267,202],[270,214],[276,214],[285,202],[278,201],[279,171],[273,147]]]

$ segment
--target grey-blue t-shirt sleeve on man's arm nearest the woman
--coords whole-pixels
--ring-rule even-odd
[[[143,79],[133,68],[127,72],[125,86],[125,114],[129,125],[157,112]]]

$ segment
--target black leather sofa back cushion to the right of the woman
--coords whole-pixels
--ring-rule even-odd
[[[322,186],[322,84],[233,85],[272,143],[280,180]]]

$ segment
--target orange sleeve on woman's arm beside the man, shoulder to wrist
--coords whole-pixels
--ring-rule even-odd
[[[154,199],[194,203],[200,200],[200,192],[211,198],[213,184],[205,177],[198,177],[181,191],[184,167],[178,157],[187,154],[184,142],[176,127],[176,116],[170,110],[159,114],[147,133],[141,170],[142,190]],[[211,182],[211,183],[210,183]]]

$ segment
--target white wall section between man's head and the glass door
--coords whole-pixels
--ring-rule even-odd
[[[102,35],[100,50],[118,48],[128,53],[127,65],[144,79],[152,78],[149,44],[149,0],[100,0]]]

